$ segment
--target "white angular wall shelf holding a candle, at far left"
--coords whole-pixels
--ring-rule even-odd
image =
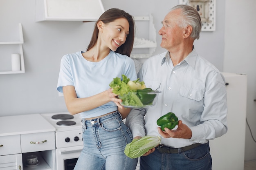
[[[23,32],[22,32],[22,24],[19,23],[19,41],[7,41],[7,42],[0,42],[0,45],[8,45],[8,44],[18,44],[20,48],[20,71],[0,71],[0,74],[18,74],[18,73],[25,73],[25,65],[24,65],[24,56],[23,56],[23,49],[22,44],[24,43],[23,40]]]

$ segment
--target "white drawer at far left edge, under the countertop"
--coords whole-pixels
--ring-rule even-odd
[[[0,136],[0,155],[21,153],[20,135]]]

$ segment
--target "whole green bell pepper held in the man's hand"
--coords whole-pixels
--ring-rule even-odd
[[[178,118],[172,112],[166,113],[165,115],[157,119],[157,125],[161,126],[161,129],[163,131],[165,131],[164,130],[165,127],[168,129],[173,129],[177,124],[178,124]]]

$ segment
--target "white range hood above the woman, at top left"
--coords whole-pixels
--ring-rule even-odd
[[[101,0],[36,0],[36,22],[97,21],[104,11]]]

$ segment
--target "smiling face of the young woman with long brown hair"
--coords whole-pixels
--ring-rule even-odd
[[[102,23],[101,40],[102,45],[110,50],[116,51],[119,46],[125,43],[129,34],[129,22],[125,18],[118,18],[108,24]]]

